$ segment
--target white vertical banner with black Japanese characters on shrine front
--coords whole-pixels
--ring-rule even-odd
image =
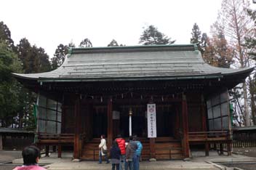
[[[148,137],[156,137],[156,104],[148,104]]]

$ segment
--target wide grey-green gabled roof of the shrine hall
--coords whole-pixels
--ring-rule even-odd
[[[188,44],[74,48],[56,70],[13,75],[37,81],[136,81],[216,78],[252,70],[212,67],[195,44]]]

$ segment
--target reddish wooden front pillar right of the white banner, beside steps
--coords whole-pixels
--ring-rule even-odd
[[[182,124],[183,124],[183,155],[185,158],[189,157],[189,143],[188,143],[188,105],[185,94],[182,100]]]

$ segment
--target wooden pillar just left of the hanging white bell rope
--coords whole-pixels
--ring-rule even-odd
[[[108,148],[112,146],[113,140],[113,103],[112,100],[108,100]]]

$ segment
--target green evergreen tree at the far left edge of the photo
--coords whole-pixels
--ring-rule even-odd
[[[11,73],[21,72],[21,63],[6,41],[0,41],[0,120],[1,126],[14,123],[18,107],[17,81]]]

